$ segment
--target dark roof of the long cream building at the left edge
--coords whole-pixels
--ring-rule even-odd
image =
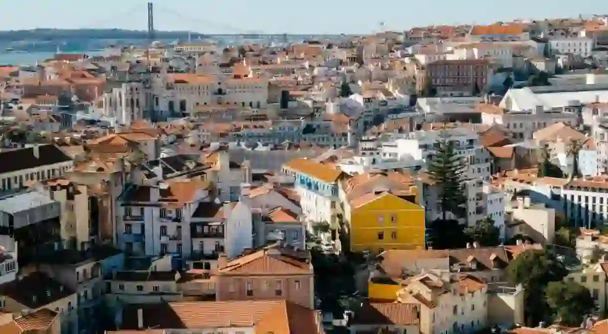
[[[69,162],[70,160],[72,158],[54,145],[38,145],[38,157],[34,155],[34,148],[12,149],[0,152],[1,162],[11,162],[0,163],[0,174]]]

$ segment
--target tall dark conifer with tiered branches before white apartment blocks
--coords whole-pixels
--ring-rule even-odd
[[[441,140],[435,143],[437,154],[429,164],[429,176],[439,189],[441,217],[445,221],[447,213],[456,217],[464,216],[466,203],[463,189],[465,159],[458,155],[454,141],[447,140],[447,134],[441,134]]]

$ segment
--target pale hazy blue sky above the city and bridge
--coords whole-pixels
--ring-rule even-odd
[[[0,30],[147,29],[146,0],[0,0]],[[157,30],[201,33],[372,33],[608,12],[607,0],[155,0]]]

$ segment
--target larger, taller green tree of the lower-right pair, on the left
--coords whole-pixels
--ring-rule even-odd
[[[551,315],[545,289],[549,282],[559,282],[568,271],[548,250],[527,250],[519,254],[506,268],[506,275],[514,284],[524,288],[525,315],[528,325],[536,325]]]

